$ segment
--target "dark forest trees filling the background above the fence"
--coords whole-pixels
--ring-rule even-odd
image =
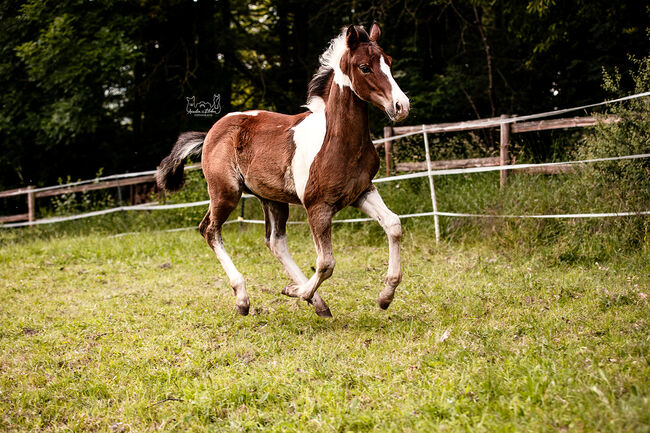
[[[187,97],[299,112],[346,24],[381,24],[419,123],[602,100],[602,68],[647,54],[648,16],[641,0],[2,0],[0,189],[152,169],[217,118],[188,116]],[[386,121],[373,111],[375,133]],[[531,134],[521,148],[541,160],[571,143]]]

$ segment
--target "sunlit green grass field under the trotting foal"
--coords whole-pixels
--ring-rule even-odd
[[[647,248],[565,262],[407,223],[382,311],[385,239],[334,235],[331,320],[279,294],[259,226],[224,235],[248,317],[195,231],[3,235],[0,430],[650,431]],[[289,242],[308,271],[308,229]]]

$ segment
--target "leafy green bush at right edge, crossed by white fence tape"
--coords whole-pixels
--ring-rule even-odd
[[[635,93],[650,90],[650,56],[632,59],[632,62],[636,67],[628,77],[618,71],[605,73],[607,91],[620,96],[630,90]],[[623,84],[625,78],[632,83],[632,89]],[[587,134],[576,151],[578,159],[650,152],[650,101],[647,98],[614,105],[608,115],[618,121],[603,121]],[[580,198],[594,207],[607,203],[609,209],[620,212],[650,210],[650,160],[647,158],[590,164],[580,170],[576,183],[581,191],[588,191],[588,194],[580,194]],[[650,218],[594,221],[589,224],[589,232],[615,233],[621,244],[638,248],[650,239]]]

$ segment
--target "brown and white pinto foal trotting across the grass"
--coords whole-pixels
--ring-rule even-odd
[[[332,217],[352,205],[377,220],[388,235],[388,273],[379,306],[386,309],[393,300],[402,278],[402,228],[371,183],[379,158],[370,140],[368,103],[399,121],[409,113],[409,100],[393,79],[392,59],[377,44],[380,33],[376,24],[370,34],[350,26],[330,42],[309,84],[309,111],[295,116],[229,113],[207,134],[181,134],[158,167],[159,187],[177,190],[183,184],[186,157],[202,152],[210,209],[199,230],[228,274],[240,314],[248,314],[250,301],[244,277],[224,249],[221,226],[244,191],[262,203],[266,245],[293,281],[282,293],[310,302],[319,316],[331,316],[316,289],[334,269]],[[307,210],[318,254],[309,279],[287,248],[289,204]]]

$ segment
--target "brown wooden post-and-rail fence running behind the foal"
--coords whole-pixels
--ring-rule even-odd
[[[447,168],[466,168],[466,167],[486,167],[486,166],[498,166],[498,165],[508,165],[510,163],[509,156],[509,147],[510,147],[510,135],[518,134],[522,132],[530,131],[545,131],[550,129],[565,129],[565,128],[576,128],[576,127],[585,127],[585,126],[594,126],[598,121],[611,122],[616,121],[616,118],[605,118],[605,119],[596,119],[594,117],[571,117],[565,119],[554,119],[554,120],[539,120],[533,122],[512,122],[512,123],[501,123],[500,125],[494,125],[494,122],[498,122],[503,119],[509,119],[511,116],[503,115],[501,117],[495,117],[491,119],[481,119],[468,122],[456,122],[456,123],[439,123],[435,125],[417,125],[417,126],[386,126],[384,128],[384,138],[390,138],[400,134],[412,133],[412,132],[422,132],[423,128],[427,130],[427,133],[441,133],[441,132],[458,132],[458,131],[470,131],[477,129],[485,128],[500,128],[500,146],[499,146],[499,156],[498,157],[489,157],[489,158],[474,158],[474,159],[459,159],[459,160],[449,160],[449,161],[435,161],[431,164],[432,169],[447,169]],[[486,123],[493,122],[486,125]],[[402,162],[402,163],[393,163],[393,146],[395,140],[389,140],[384,143],[378,144],[377,147],[384,146],[386,153],[386,175],[390,176],[392,169],[397,171],[419,171],[426,170],[425,162]],[[191,165],[185,167],[186,170],[193,170],[199,168],[199,164]],[[556,167],[546,167],[543,173],[553,174],[561,173],[570,170],[569,167],[556,166]],[[530,170],[529,172],[533,172]],[[539,172],[539,171],[538,171]],[[507,171],[501,171],[501,186],[503,187],[507,179]],[[109,176],[110,177],[110,176]],[[22,213],[18,215],[8,215],[0,216],[0,224],[16,222],[16,221],[35,221],[36,220],[36,199],[44,197],[54,197],[57,195],[70,194],[70,193],[84,193],[88,191],[96,191],[100,189],[107,188],[117,188],[118,189],[118,200],[121,201],[121,188],[128,186],[130,187],[130,201],[131,204],[134,203],[134,189],[136,185],[142,185],[147,183],[155,182],[153,174],[146,174],[141,176],[126,177],[120,179],[107,179],[101,180],[98,179],[92,183],[84,183],[80,185],[61,185],[60,187],[52,187],[47,189],[39,189],[34,186],[27,186],[23,188],[17,188],[7,191],[0,191],[0,199],[15,197],[19,195],[25,195],[27,197],[27,213]]]

